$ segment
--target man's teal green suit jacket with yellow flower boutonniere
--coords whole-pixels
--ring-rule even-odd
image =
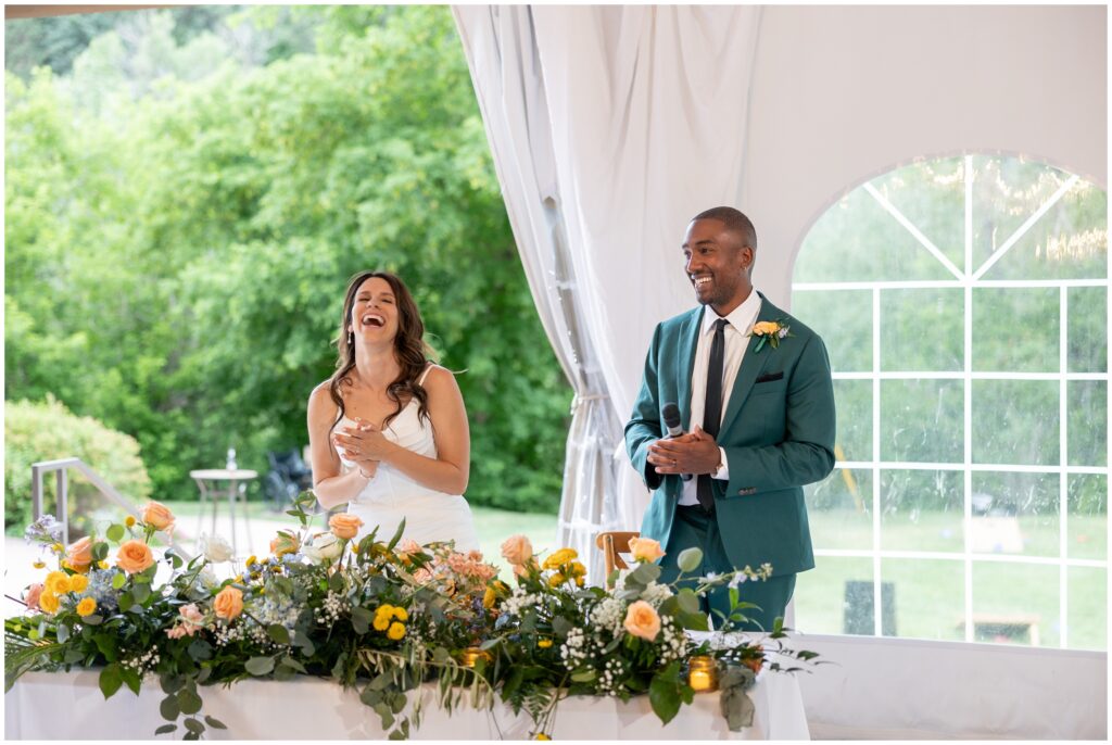
[[[758,321],[791,326],[778,348],[751,336],[716,437],[726,450],[729,481],[713,479],[715,516],[731,563],[775,575],[814,567],[803,486],[834,468],[834,388],[830,359],[818,336],[764,299]],[[653,489],[642,535],[667,546],[682,491],[678,476],[661,476],[647,463],[648,445],[666,431],[661,407],[679,406],[691,428],[692,368],[703,307],[656,327],[645,377],[625,428],[634,468]]]

